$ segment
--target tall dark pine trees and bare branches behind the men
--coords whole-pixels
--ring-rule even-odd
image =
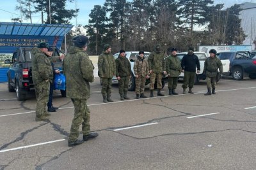
[[[49,24],[48,0],[17,1],[17,10],[26,18],[41,11],[42,23]],[[51,1],[51,24],[70,24],[68,20],[76,17],[79,10],[65,10],[66,2]],[[31,11],[31,4],[35,11]],[[71,45],[72,36],[81,34],[84,27],[90,37],[88,53],[92,55],[99,55],[106,43],[113,52],[121,48],[151,52],[157,43],[180,51],[198,45],[241,45],[246,35],[241,28],[239,5],[225,10],[223,6],[211,0],[106,0],[102,6],[94,6],[88,25],[77,25],[76,31],[68,34],[67,43]]]

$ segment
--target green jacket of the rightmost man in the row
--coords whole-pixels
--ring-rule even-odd
[[[220,74],[223,73],[223,66],[218,57],[208,57],[204,62],[204,74],[207,77],[216,77],[220,69]]]

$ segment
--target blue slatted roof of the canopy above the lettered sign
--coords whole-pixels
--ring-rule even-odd
[[[64,36],[72,25],[66,24],[24,24],[0,22],[0,35],[14,36]]]

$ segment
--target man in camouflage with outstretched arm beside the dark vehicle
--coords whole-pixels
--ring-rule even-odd
[[[48,44],[45,42],[38,43],[33,48],[34,57],[32,59],[32,79],[35,84],[36,94],[36,121],[49,120],[50,115],[46,111],[46,105],[49,101],[50,82],[52,82],[53,73],[51,62],[55,62],[61,57],[47,57]]]

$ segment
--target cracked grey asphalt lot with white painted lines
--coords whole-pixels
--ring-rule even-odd
[[[67,146],[74,107],[54,92],[60,107],[50,122],[35,122],[35,96],[17,101],[0,83],[0,169],[255,169],[256,83],[222,79],[216,95],[195,94],[102,103],[99,78],[91,84],[91,130],[99,137]],[[167,87],[163,92],[167,94]],[[145,90],[149,96],[149,90]]]

